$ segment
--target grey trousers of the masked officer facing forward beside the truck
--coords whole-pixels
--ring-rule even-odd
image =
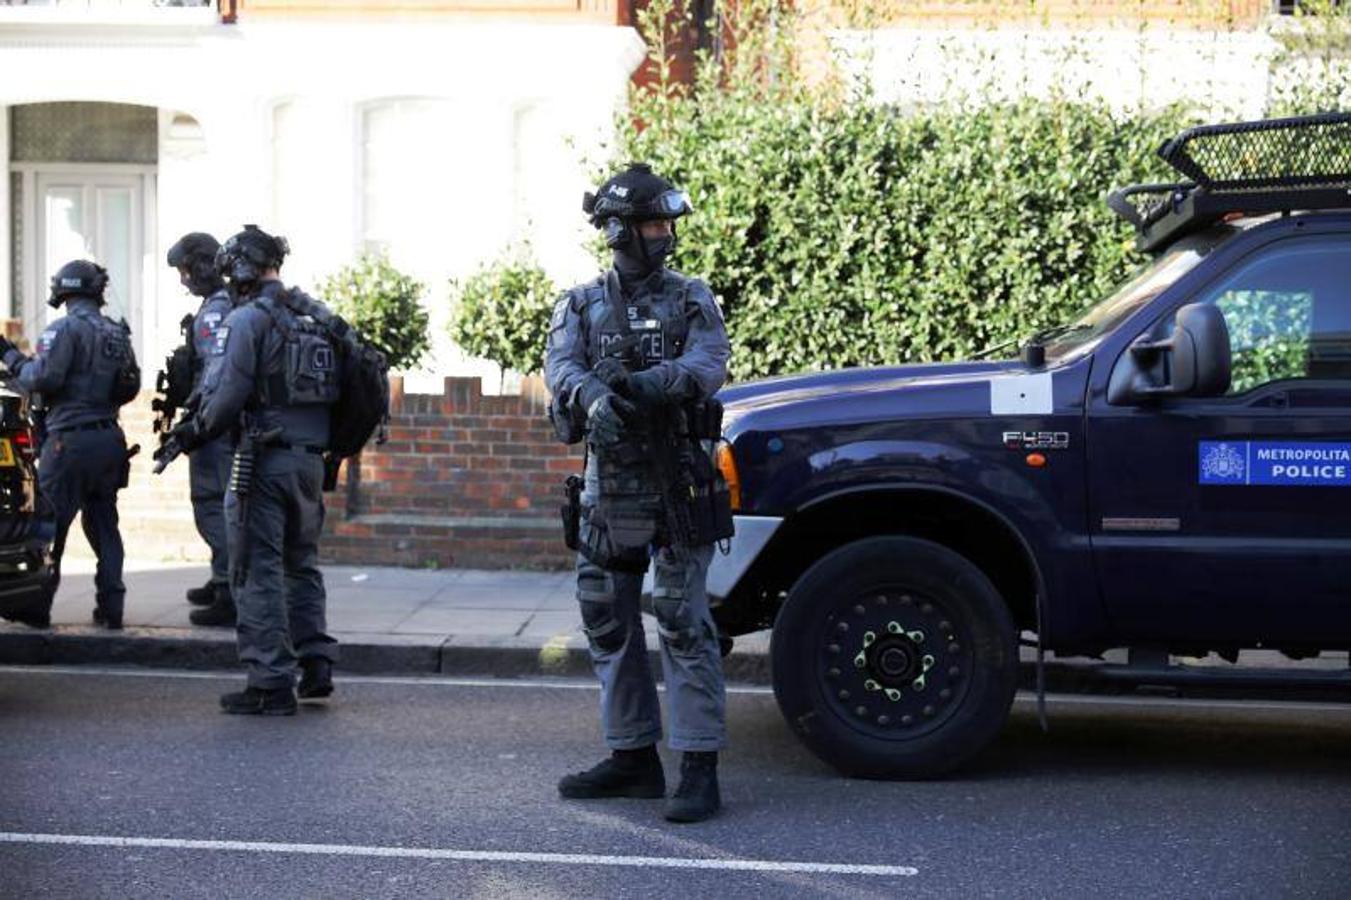
[[[653,611],[661,635],[662,677],[674,750],[720,750],[727,743],[723,659],[704,582],[713,547],[678,561],[661,550],[654,566]],[[639,607],[643,576],[577,559],[577,600],[600,678],[600,718],[612,750],[632,750],[662,736],[661,707],[647,661]]]

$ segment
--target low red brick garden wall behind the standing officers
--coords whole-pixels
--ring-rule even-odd
[[[478,378],[446,378],[440,395],[392,386],[389,442],[370,446],[326,495],[322,555],[328,562],[400,566],[557,569],[569,565],[558,523],[562,481],[581,451],[558,443],[546,395],[527,378],[519,396],[484,396]],[[205,561],[192,524],[188,465],[150,473],[150,392],[123,409],[132,464],[119,509],[128,557]],[[80,528],[69,553],[88,555]]]

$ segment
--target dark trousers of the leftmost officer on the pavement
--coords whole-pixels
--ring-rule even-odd
[[[51,503],[57,536],[51,546],[49,604],[61,584],[61,557],[76,514],[85,538],[99,557],[95,573],[95,601],[112,618],[120,618],[122,532],[118,531],[118,491],[127,465],[127,443],[122,428],[58,431],[47,436],[38,457],[38,491]]]

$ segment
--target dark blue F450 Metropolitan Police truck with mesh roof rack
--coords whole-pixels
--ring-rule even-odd
[[[1351,696],[1340,669],[1170,665],[1351,647],[1351,115],[1159,153],[1182,180],[1108,199],[1151,262],[1017,359],[720,395],[719,626],[773,628],[780,708],[842,772],[969,761],[1020,645],[1038,674],[1127,649],[1094,669]]]

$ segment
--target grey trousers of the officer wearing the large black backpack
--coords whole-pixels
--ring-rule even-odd
[[[338,659],[319,572],[323,478],[317,455],[259,449],[247,497],[232,485],[226,492],[239,659],[250,686],[292,686],[297,658]]]

